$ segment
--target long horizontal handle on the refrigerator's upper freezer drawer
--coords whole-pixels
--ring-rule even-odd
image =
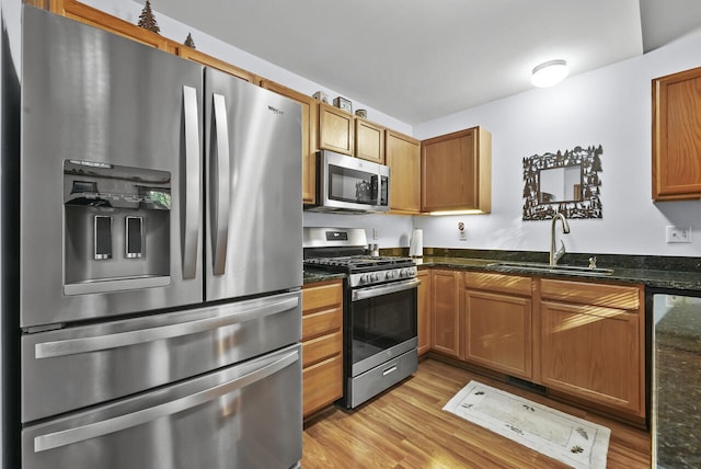
[[[118,348],[128,345],[153,342],[164,339],[189,335],[197,332],[209,331],[226,325],[232,325],[253,319],[264,318],[271,314],[295,309],[299,306],[299,297],[287,298],[271,305],[235,311],[227,316],[199,319],[196,321],[181,322],[160,328],[142,329],[137,331],[118,332],[116,334],[96,335],[92,338],[69,339],[65,341],[42,342],[34,346],[36,358],[51,358],[79,353],[97,352],[108,348]]]

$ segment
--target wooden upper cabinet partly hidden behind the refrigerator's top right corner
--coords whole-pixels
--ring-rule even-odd
[[[302,106],[302,202],[314,204],[317,202],[318,101],[271,80],[262,80],[261,87],[295,100]]]

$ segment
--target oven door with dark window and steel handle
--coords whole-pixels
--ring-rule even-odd
[[[349,377],[416,348],[418,278],[350,290]]]

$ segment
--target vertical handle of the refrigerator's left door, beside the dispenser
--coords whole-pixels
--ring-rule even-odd
[[[183,278],[197,275],[197,242],[199,236],[199,116],[197,90],[183,85],[183,113],[185,124],[185,174],[181,191],[181,210],[184,217],[182,233]]]

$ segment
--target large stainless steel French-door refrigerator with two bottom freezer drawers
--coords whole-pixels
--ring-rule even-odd
[[[296,466],[300,106],[28,5],[22,37],[5,451],[16,438],[25,469]]]

